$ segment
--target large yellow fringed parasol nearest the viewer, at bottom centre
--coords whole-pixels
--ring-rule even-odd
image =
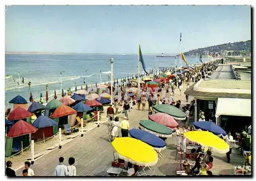
[[[158,161],[158,154],[154,148],[140,140],[123,137],[115,138],[112,146],[120,159],[139,166],[154,166]]]

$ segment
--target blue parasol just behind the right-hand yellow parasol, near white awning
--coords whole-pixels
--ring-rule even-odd
[[[227,135],[227,133],[220,126],[211,121],[197,121],[193,122],[193,124],[196,129],[201,129],[202,131],[209,131],[215,135]]]

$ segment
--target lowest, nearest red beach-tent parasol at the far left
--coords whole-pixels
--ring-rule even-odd
[[[7,134],[7,137],[13,138],[27,134],[32,134],[35,133],[37,130],[38,129],[32,126],[30,123],[23,120],[19,120],[11,127],[9,133]]]

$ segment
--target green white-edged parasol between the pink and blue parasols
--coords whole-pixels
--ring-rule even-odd
[[[173,136],[173,132],[169,127],[151,120],[140,120],[139,128],[162,138]]]

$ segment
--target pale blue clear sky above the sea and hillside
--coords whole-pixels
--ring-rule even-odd
[[[176,54],[251,39],[250,6],[10,6],[6,51]]]

